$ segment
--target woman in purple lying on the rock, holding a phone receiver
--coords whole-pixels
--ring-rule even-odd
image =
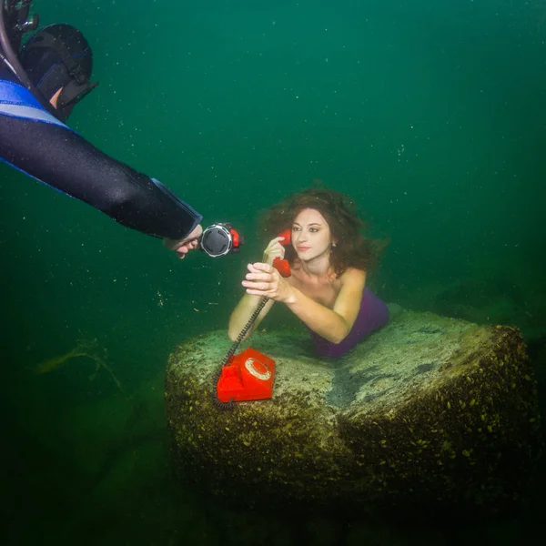
[[[361,235],[364,223],[348,197],[311,187],[273,207],[264,226],[269,235],[291,228],[291,241],[283,246],[282,237],[272,238],[262,261],[248,264],[242,282],[247,293],[229,318],[230,339],[237,339],[264,296],[269,301],[247,336],[278,301],[303,321],[315,349],[326,357],[341,357],[389,321],[385,303],[366,287],[376,246]],[[275,258],[288,259],[290,277],[273,268]]]

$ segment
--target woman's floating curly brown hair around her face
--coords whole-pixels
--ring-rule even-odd
[[[305,208],[314,208],[328,222],[332,238],[337,240],[330,251],[330,266],[337,277],[347,268],[364,271],[376,267],[379,251],[385,245],[380,241],[365,238],[361,230],[365,222],[358,216],[355,203],[349,197],[317,185],[283,199],[270,208],[261,219],[262,234],[270,240],[281,231],[291,228],[294,219]],[[297,259],[294,248],[286,248],[285,258],[290,264]]]

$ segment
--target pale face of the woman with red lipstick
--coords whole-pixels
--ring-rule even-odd
[[[292,246],[298,258],[308,261],[329,251],[332,236],[324,217],[314,208],[304,208],[292,223]]]

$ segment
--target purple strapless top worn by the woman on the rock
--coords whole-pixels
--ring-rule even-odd
[[[359,341],[372,331],[389,322],[389,308],[369,288],[364,288],[357,319],[349,334],[341,343],[332,343],[309,329],[315,349],[320,356],[339,358],[349,352]]]

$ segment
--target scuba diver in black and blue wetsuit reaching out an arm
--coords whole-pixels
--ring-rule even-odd
[[[29,15],[31,0],[1,1],[0,159],[123,226],[163,238],[179,258],[198,248],[202,216],[193,207],[65,125],[97,85],[84,35],[71,25],[48,25],[22,46],[23,35],[38,25],[37,15]]]

